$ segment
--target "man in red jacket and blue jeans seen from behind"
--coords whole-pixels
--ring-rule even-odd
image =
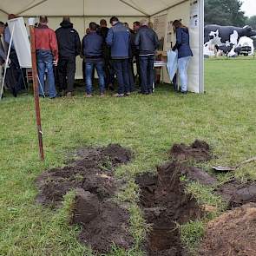
[[[56,85],[53,71],[53,63],[58,62],[58,44],[56,33],[47,26],[47,16],[40,16],[39,25],[35,29],[36,37],[36,60],[39,81],[39,95],[43,95],[45,90],[44,75],[47,69],[47,78],[49,84],[49,98],[56,98]]]

